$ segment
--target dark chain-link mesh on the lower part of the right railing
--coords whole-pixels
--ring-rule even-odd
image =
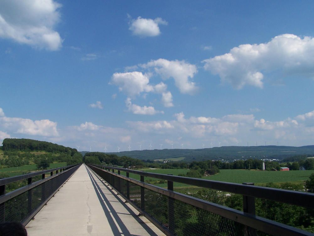
[[[268,234],[203,210],[183,201],[170,198],[97,168],[92,169],[113,188],[118,190],[138,208],[145,211],[161,227],[178,236],[266,236]]]

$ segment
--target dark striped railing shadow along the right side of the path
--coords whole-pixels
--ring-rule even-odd
[[[100,201],[100,204],[104,210],[104,213],[107,217],[107,220],[111,226],[111,230],[115,236],[121,236],[122,234],[124,236],[138,236],[138,234],[131,234],[129,230],[127,229],[127,226],[125,223],[123,223],[122,219],[118,214],[126,215],[126,213],[117,213],[113,205],[111,204],[111,201],[107,198],[106,194],[103,192],[103,189],[101,186],[104,186],[107,191],[110,192],[111,196],[114,196],[115,200],[119,202],[123,206],[123,208],[131,215],[140,225],[143,227],[143,230],[147,232],[150,236],[158,236],[149,226],[146,225],[145,222],[143,222],[138,215],[136,215],[126,204],[122,199],[120,199],[112,190],[107,186],[95,173],[93,173],[98,181],[96,181],[95,177],[90,173],[91,170],[87,167],[86,170],[88,172],[88,175],[90,177],[90,180],[94,186],[95,192],[97,194],[97,197]],[[100,184],[99,184],[100,183]]]

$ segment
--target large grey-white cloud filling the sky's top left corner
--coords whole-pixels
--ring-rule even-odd
[[[0,37],[35,48],[58,50],[63,40],[54,26],[60,21],[60,7],[53,0],[2,0]]]

